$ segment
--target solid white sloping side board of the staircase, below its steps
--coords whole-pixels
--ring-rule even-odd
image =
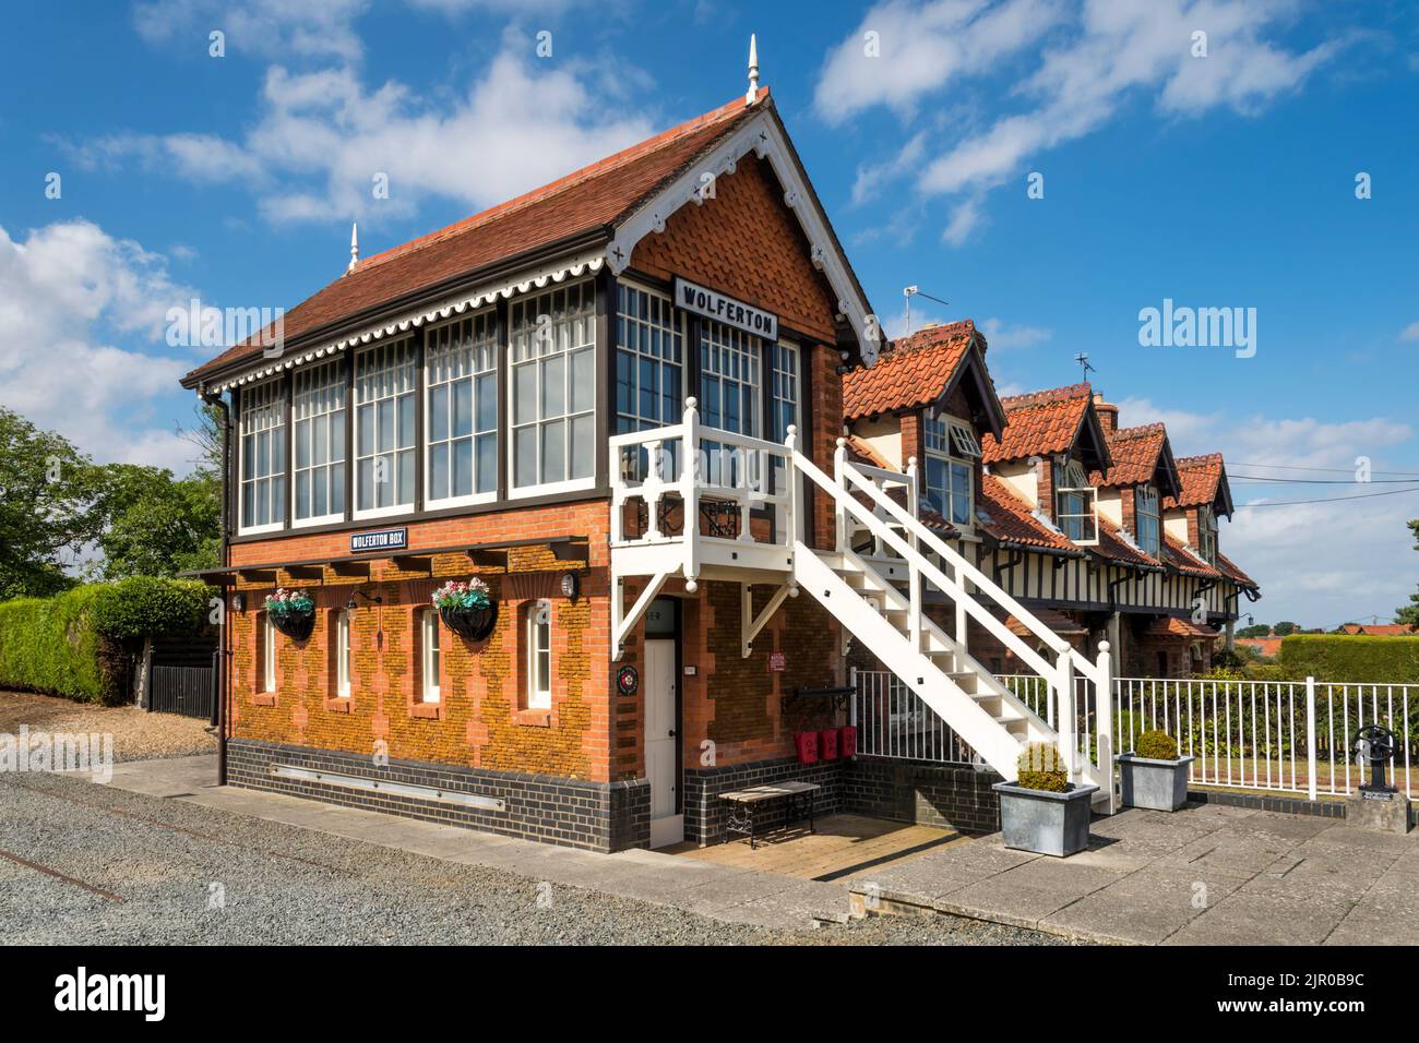
[[[807,590],[839,623],[853,631],[891,673],[945,721],[962,742],[1003,778],[1013,779],[1020,741],[964,692],[935,663],[911,647],[911,640],[867,605],[819,552],[796,541],[793,569]]]

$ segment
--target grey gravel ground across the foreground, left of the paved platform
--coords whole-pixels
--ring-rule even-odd
[[[9,944],[1063,944],[954,917],[724,924],[58,775],[0,775],[0,856]]]

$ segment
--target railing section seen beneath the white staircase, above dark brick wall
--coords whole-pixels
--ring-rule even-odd
[[[847,721],[857,728],[858,754],[937,763],[982,763],[981,756],[897,674],[853,667],[851,684]]]

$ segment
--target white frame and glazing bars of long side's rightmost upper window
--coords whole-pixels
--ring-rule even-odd
[[[552,315],[552,311],[546,302],[556,299],[559,295],[568,299],[568,295],[576,292],[580,295],[580,304],[578,314],[568,319],[552,321],[552,345],[546,346],[539,339],[539,325],[536,318],[539,315]],[[521,322],[521,316],[531,314],[532,324],[525,325]],[[573,359],[586,355],[590,358],[592,366],[592,387],[590,407],[587,409],[572,409],[572,394],[578,387],[575,377]],[[553,356],[562,359],[562,413],[556,416],[542,416],[542,377],[545,373],[545,365]],[[532,420],[519,420],[517,410],[517,396],[518,396],[518,372],[526,366],[531,366],[535,376],[534,380],[534,396],[536,402],[536,417]],[[507,423],[504,430],[508,433],[507,444],[507,460],[508,460],[508,500],[525,500],[526,497],[545,497],[555,492],[572,492],[576,490],[589,490],[596,487],[596,447],[592,444],[592,471],[590,474],[582,475],[579,478],[561,478],[553,481],[541,481],[542,478],[542,429],[549,423],[561,421],[565,424],[563,437],[566,440],[563,446],[563,460],[566,463],[566,471],[572,470],[573,450],[576,446],[576,438],[573,430],[576,427],[575,421],[590,417],[590,429],[595,437],[596,433],[596,410],[604,409],[597,403],[596,393],[596,284],[592,280],[580,280],[578,282],[569,282],[563,287],[556,287],[553,289],[543,291],[536,295],[528,295],[524,298],[515,298],[508,308],[508,399],[507,399]],[[529,482],[526,485],[518,485],[518,434],[525,430],[534,430],[535,436],[535,468],[538,481]]]

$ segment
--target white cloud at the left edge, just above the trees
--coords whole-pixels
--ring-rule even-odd
[[[23,240],[0,227],[0,326],[34,335],[0,341],[0,402],[99,460],[186,471],[192,446],[150,426],[150,400],[172,393],[190,363],[111,339],[160,339],[167,309],[194,295],[160,255],[89,221]]]

